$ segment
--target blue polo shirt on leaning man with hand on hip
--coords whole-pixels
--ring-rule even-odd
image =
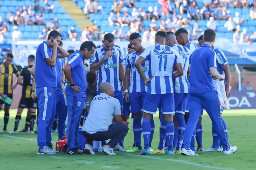
[[[76,94],[74,94],[74,90],[71,88],[68,82],[65,94],[69,96],[85,97],[87,81],[85,76],[84,58],[79,50],[76,50],[76,52],[68,58],[67,64],[71,66],[71,77],[74,84],[80,87],[80,93],[76,92]]]

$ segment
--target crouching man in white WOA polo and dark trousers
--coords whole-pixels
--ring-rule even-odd
[[[115,155],[113,148],[128,133],[129,122],[123,121],[121,116],[121,104],[114,98],[114,90],[110,83],[103,82],[99,85],[100,94],[91,102],[90,113],[82,128],[86,138],[84,151],[86,154],[95,154],[92,150],[92,141],[111,139],[103,146],[102,152]],[[100,106],[100,107],[99,107]],[[112,124],[113,116],[116,124]]]

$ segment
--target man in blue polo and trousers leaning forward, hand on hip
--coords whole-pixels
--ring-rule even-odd
[[[84,59],[91,58],[95,48],[96,46],[92,41],[83,42],[80,49],[68,58],[64,67],[64,74],[68,80],[68,86],[66,87],[68,111],[67,154],[81,154],[79,124],[87,86]]]

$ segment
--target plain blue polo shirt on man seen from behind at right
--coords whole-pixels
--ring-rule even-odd
[[[215,91],[209,68],[217,68],[217,56],[211,46],[202,44],[189,58],[190,88],[189,93],[205,93]]]

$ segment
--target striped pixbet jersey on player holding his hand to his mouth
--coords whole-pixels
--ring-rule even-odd
[[[109,57],[97,71],[97,90],[102,82],[112,84],[114,91],[122,90],[121,82],[119,80],[119,64],[123,62],[123,53],[121,48],[117,45],[111,49],[113,56]],[[102,45],[97,46],[93,56],[90,59],[90,64],[99,62],[106,54],[106,50]]]

